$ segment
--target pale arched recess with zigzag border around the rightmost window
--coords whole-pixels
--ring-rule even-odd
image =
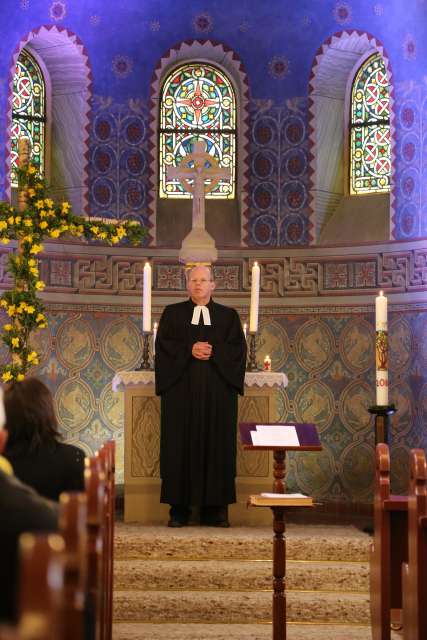
[[[346,30],[332,35],[318,49],[309,80],[310,244],[318,242],[342,199],[348,194],[349,93],[357,70],[372,54],[380,53],[390,82],[391,186],[388,238],[394,237],[395,116],[390,61],[374,36]],[[384,195],[375,194],[384,199]],[[352,196],[364,198],[366,196]],[[353,200],[356,202],[356,200]],[[361,202],[361,201],[360,201]],[[365,201],[366,203],[366,201]]]

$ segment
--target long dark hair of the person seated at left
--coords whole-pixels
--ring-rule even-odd
[[[60,440],[52,394],[38,378],[26,378],[5,387],[7,448],[35,451],[54,447]]]

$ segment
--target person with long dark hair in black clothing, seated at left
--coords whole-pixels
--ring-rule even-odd
[[[5,457],[13,472],[40,495],[58,500],[63,491],[84,491],[84,453],[62,443],[49,389],[37,378],[8,385],[4,393]]]

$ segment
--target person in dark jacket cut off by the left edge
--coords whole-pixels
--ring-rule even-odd
[[[0,387],[0,622],[16,622],[17,547],[25,531],[55,531],[58,506],[45,500],[12,475],[1,455],[8,433],[4,425],[3,390]]]

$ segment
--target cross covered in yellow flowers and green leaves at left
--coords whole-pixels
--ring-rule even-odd
[[[94,221],[74,215],[68,202],[54,203],[47,197],[46,185],[32,164],[18,169],[18,185],[26,201],[22,211],[0,202],[0,242],[18,240],[18,252],[8,258],[14,286],[0,296],[0,307],[9,318],[3,325],[1,339],[11,354],[11,362],[2,368],[4,382],[23,380],[27,370],[39,363],[39,354],[31,347],[30,338],[35,331],[47,327],[44,304],[38,297],[45,288],[36,257],[43,251],[42,241],[68,234],[110,245],[124,238],[139,244],[146,233],[133,220]]]

